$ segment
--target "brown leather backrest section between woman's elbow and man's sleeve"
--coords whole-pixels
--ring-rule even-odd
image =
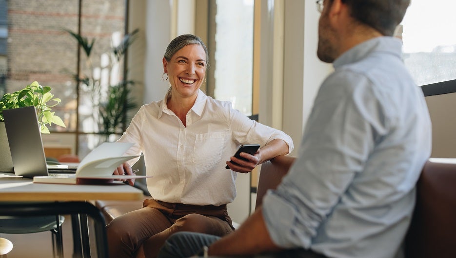
[[[276,189],[295,161],[293,156],[278,156],[270,161],[261,164],[259,172],[257,202],[255,208],[263,202],[263,196],[268,189]]]

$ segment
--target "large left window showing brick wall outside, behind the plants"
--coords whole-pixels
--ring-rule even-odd
[[[126,2],[0,0],[0,93],[2,86],[4,92],[14,92],[33,81],[53,88],[52,93],[62,100],[53,111],[67,128],[51,128],[51,135],[58,133],[55,139],[59,140],[50,144],[70,147],[80,157],[105,136],[100,135],[102,128],[94,117],[94,109],[102,103],[90,102],[88,92],[94,91],[84,89],[76,77],[93,74],[99,78],[95,94],[105,99],[108,86],[123,79],[123,63],[113,66],[112,56],[106,53],[124,35]],[[95,38],[90,62],[78,48],[76,38],[65,30],[79,33],[89,42]],[[45,147],[49,144],[44,137],[43,142]]]

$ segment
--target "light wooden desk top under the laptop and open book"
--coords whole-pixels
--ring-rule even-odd
[[[29,178],[0,175],[1,202],[141,199],[141,190],[121,182],[107,185],[34,184]]]

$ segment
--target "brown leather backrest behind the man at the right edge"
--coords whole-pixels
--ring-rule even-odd
[[[428,161],[417,183],[407,258],[456,257],[456,164]]]

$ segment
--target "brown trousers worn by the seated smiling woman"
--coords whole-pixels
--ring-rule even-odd
[[[226,204],[188,205],[144,200],[139,210],[124,214],[106,226],[110,257],[155,258],[168,237],[179,231],[224,236],[234,231]]]

